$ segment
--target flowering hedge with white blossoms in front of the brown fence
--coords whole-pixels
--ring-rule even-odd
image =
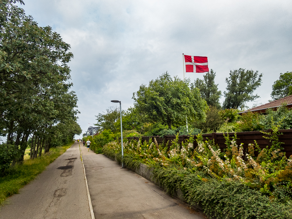
[[[124,142],[124,162],[153,168],[153,176],[169,192],[180,189],[190,204],[200,204],[206,213],[219,218],[292,218],[292,156],[281,152],[278,127],[267,137],[272,147],[237,145],[236,135],[225,135],[227,149],[221,152],[213,141],[197,135],[181,146],[178,136],[170,148],[156,139]],[[267,133],[265,133],[267,134]],[[259,155],[256,157],[254,151]],[[103,152],[121,161],[121,144],[109,142]]]

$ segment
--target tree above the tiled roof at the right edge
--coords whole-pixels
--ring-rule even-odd
[[[272,90],[273,100],[292,95],[292,72],[280,73],[279,80],[274,82]]]

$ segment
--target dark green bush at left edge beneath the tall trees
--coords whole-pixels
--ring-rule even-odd
[[[0,145],[0,175],[10,167],[12,160],[17,158],[18,155],[18,147],[15,148],[14,145],[7,145],[5,143]]]

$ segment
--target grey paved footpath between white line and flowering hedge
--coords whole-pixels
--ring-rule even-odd
[[[80,148],[95,218],[206,218],[105,155]]]

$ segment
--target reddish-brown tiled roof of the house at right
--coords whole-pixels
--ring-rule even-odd
[[[274,100],[272,102],[239,112],[238,114],[243,114],[245,112],[257,112],[261,114],[266,114],[267,109],[277,110],[278,107],[282,105],[282,103],[287,104],[288,108],[292,108],[292,95],[281,98],[279,100]]]

